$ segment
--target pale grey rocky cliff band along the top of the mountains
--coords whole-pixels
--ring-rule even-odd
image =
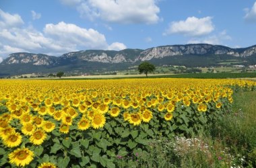
[[[84,50],[69,52],[62,56],[48,56],[46,54],[13,53],[3,60],[0,65],[26,64],[32,65],[60,65],[65,61],[73,62],[84,60],[88,62],[122,63],[152,60],[153,58],[164,58],[166,56],[181,55],[220,55],[247,57],[256,54],[256,46],[248,48],[228,48],[211,44],[187,44],[173,46],[158,46],[146,50],[126,49],[121,51],[109,50]]]

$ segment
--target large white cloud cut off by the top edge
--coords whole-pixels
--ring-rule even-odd
[[[65,0],[67,1],[67,0]],[[81,17],[119,24],[156,24],[160,8],[156,0],[88,0],[77,4]]]

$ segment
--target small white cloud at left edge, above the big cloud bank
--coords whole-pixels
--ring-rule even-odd
[[[0,29],[13,28],[24,24],[22,17],[18,14],[11,15],[0,9]]]

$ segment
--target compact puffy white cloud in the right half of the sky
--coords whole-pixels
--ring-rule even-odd
[[[185,36],[205,36],[214,31],[212,17],[187,17],[185,21],[172,22],[164,35],[183,34]]]

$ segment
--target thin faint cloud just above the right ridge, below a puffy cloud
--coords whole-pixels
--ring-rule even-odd
[[[205,38],[193,38],[189,40],[188,44],[199,44],[199,43],[205,43],[205,44],[224,44],[225,41],[232,40],[228,34],[226,34],[226,30],[220,32],[217,35],[213,36],[207,36]]]

